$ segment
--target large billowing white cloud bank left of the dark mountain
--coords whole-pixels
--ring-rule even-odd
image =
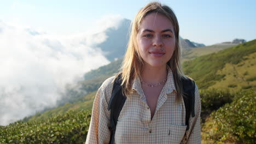
[[[0,21],[0,125],[56,105],[68,83],[109,61],[96,44],[120,17],[76,35],[52,35]],[[104,20],[102,20],[104,21]],[[98,25],[99,26],[99,25]]]

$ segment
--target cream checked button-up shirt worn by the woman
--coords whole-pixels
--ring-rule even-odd
[[[91,123],[85,143],[109,143],[111,97],[114,77],[110,77],[98,89],[92,108]],[[120,112],[115,131],[115,143],[201,143],[200,113],[201,101],[198,88],[195,89],[195,117],[189,119],[189,130],[185,125],[185,105],[176,104],[176,91],[170,68],[167,81],[158,98],[154,117],[139,79],[135,79],[135,91],[126,99]]]

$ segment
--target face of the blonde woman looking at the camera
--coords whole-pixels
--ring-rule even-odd
[[[166,67],[175,47],[172,22],[162,14],[148,14],[142,20],[137,36],[138,51],[145,66]]]

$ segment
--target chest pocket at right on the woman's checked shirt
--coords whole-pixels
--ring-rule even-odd
[[[162,130],[164,139],[162,143],[181,143],[187,126],[186,125],[168,125]]]

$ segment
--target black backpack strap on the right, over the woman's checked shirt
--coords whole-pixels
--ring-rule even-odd
[[[189,130],[189,117],[190,114],[192,117],[195,116],[195,82],[188,77],[182,77],[183,85],[183,100],[185,104],[186,116],[185,124]]]

